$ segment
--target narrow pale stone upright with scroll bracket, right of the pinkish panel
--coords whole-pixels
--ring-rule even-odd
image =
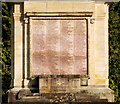
[[[94,16],[88,18],[88,81],[89,86],[94,86],[95,62],[94,62]]]

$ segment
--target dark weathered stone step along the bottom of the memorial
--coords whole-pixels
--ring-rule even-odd
[[[107,99],[101,99],[99,95],[90,95],[86,93],[43,93],[33,94],[22,97],[16,102],[48,102],[48,103],[69,103],[69,102],[108,102]]]

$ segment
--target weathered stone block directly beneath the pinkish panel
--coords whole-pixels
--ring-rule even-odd
[[[53,75],[39,77],[39,93],[72,93],[88,85],[88,76]]]

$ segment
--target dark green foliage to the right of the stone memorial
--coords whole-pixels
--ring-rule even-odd
[[[120,101],[120,2],[109,4],[109,80]]]

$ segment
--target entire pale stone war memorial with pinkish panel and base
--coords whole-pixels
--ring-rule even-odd
[[[108,4],[14,2],[8,102],[114,102]]]

